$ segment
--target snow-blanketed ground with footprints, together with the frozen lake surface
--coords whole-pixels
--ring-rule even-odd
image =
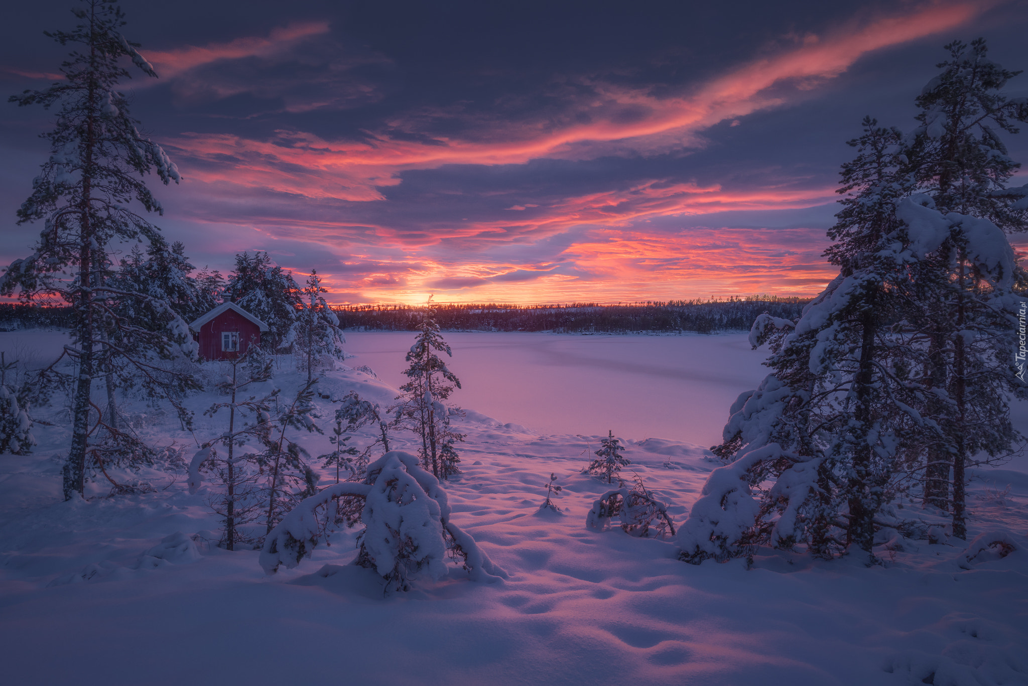
[[[26,335],[0,334],[0,350]],[[40,355],[60,347],[54,334],[28,335]],[[42,413],[58,426],[38,432],[34,455],[0,457],[4,682],[1028,684],[1025,549],[967,562],[960,541],[905,541],[879,549],[882,568],[780,553],[747,571],[680,563],[673,540],[585,529],[607,484],[580,471],[608,428],[630,440],[630,471],[685,517],[719,463],[683,439],[714,442],[730,401],[763,373],[742,336],[447,338],[466,387],[454,400],[473,410],[460,424],[464,474],[446,486],[453,521],[510,579],[471,583],[454,568],[383,598],[371,572],[345,567],[354,532],[274,577],[255,551],[161,547],[176,532],[215,528],[204,491],[189,496],[182,474],[149,471],[155,494],[108,499],[98,482],[89,500],[60,502],[52,456],[68,429],[50,408]],[[350,339],[348,364],[381,381],[340,369],[322,392],[389,400],[412,335]],[[274,383],[289,392],[300,377],[282,366]],[[133,410],[149,440],[194,444],[159,410]],[[219,426],[197,417],[196,437]],[[328,449],[324,436],[306,444]],[[1003,530],[1024,544],[1021,464],[972,482],[972,536]],[[564,513],[540,515],[551,471]]]

